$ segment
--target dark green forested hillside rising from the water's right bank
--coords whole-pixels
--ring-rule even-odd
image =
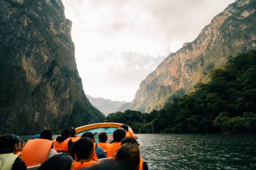
[[[255,133],[256,50],[230,57],[210,78],[162,110],[126,110],[109,114],[104,122],[128,124],[135,133]]]

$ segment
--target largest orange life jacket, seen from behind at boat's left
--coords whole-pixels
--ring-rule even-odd
[[[53,141],[42,138],[28,140],[22,151],[22,159],[27,167],[44,163],[52,145]]]

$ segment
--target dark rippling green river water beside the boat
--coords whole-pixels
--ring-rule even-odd
[[[256,169],[256,136],[137,134],[151,170]],[[31,136],[21,136],[28,140]],[[57,136],[55,136],[57,137]]]

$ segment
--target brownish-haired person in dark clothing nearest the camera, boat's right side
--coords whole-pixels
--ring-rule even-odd
[[[137,144],[123,144],[114,159],[107,159],[86,170],[139,170],[139,147]]]

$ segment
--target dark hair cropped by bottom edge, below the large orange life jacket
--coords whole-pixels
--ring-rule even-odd
[[[73,159],[69,155],[58,154],[42,163],[38,170],[70,170]]]

